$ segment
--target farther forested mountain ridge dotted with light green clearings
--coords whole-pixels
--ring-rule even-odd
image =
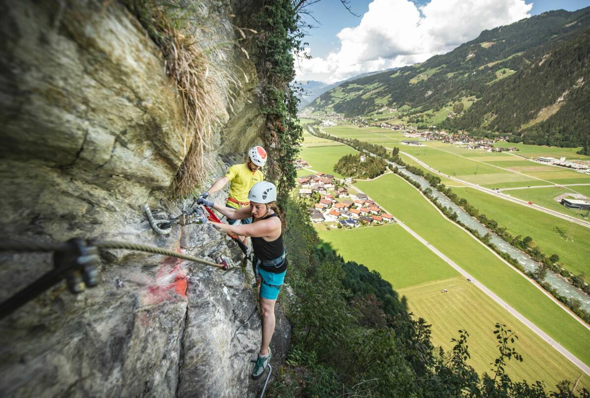
[[[404,67],[395,73],[380,73],[340,84],[334,90],[322,94],[309,107],[336,111],[346,116],[366,115],[385,107],[399,109],[405,106],[406,110],[411,109],[410,114],[438,111],[461,98],[483,98],[496,87],[508,89],[510,83],[519,78],[519,72],[538,65],[546,54],[577,40],[588,28],[590,7],[575,12],[545,12],[511,25],[483,31],[475,40],[447,54],[436,55],[422,64]],[[584,42],[584,37],[580,37],[579,40]],[[553,65],[549,62],[545,68]],[[549,70],[546,73],[550,81],[552,73]],[[543,104],[543,107],[552,103]],[[488,126],[490,120],[486,119],[485,122],[477,126],[470,124],[468,127],[474,130],[476,127],[495,128],[495,125]],[[461,126],[466,127],[465,124]],[[538,137],[538,134],[533,133],[526,135],[531,140]],[[562,142],[571,143],[572,139]],[[573,142],[578,141],[573,139]]]

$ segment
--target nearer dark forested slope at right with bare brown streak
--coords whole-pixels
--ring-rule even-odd
[[[512,134],[516,142],[579,146],[590,137],[590,29],[492,85],[465,114],[441,126]]]

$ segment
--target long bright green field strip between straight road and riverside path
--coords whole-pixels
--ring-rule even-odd
[[[580,360],[590,363],[590,331],[486,247],[444,218],[413,186],[393,174],[371,182],[357,182],[356,186]]]

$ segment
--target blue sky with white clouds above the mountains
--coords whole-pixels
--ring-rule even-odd
[[[310,7],[319,24],[306,18],[317,28],[310,29],[304,41],[309,42],[314,60],[300,63],[297,80],[333,83],[370,70],[422,62],[473,40],[483,29],[553,9],[575,11],[590,6],[590,0],[352,0],[350,3],[360,17],[349,14],[339,0],[322,0]],[[422,28],[414,31],[417,25]],[[399,27],[398,31],[395,27]],[[420,40],[412,42],[418,35]],[[359,51],[363,55],[355,57],[353,54]]]

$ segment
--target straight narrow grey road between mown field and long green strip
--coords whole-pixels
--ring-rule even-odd
[[[353,188],[355,188],[359,192],[362,192],[362,190],[360,190],[357,186],[353,186]],[[365,193],[365,192],[362,192],[362,193]],[[366,195],[366,193],[365,193],[365,195]],[[379,206],[381,206],[381,205],[379,205]],[[391,214],[391,212],[389,212],[389,210],[385,209],[383,206],[381,206],[381,208]],[[399,224],[399,226],[404,228],[405,231],[407,231],[410,235],[412,235],[412,236],[414,236],[414,238],[418,239],[418,241],[421,244],[425,245],[428,249],[430,249],[432,252],[434,252],[435,255],[439,256],[444,262],[446,262],[448,265],[450,265],[451,267],[456,269],[461,275],[463,275],[466,278],[471,279],[471,282],[477,288],[479,288],[481,291],[483,291],[485,294],[487,294],[492,300],[494,300],[498,304],[500,304],[503,308],[506,309],[506,311],[508,311],[510,314],[514,315],[514,317],[516,317],[519,321],[521,321],[523,324],[525,324],[530,330],[532,330],[537,335],[539,335],[540,338],[542,338],[547,343],[549,343],[549,345],[551,347],[558,350],[559,353],[561,353],[564,357],[568,358],[568,360],[571,361],[573,364],[575,364],[575,366],[579,367],[579,369],[581,369],[582,371],[584,371],[584,373],[586,373],[588,376],[590,376],[590,367],[588,365],[586,365],[584,362],[579,360],[578,357],[576,357],[571,352],[569,352],[565,347],[563,347],[557,341],[553,340],[547,333],[542,331],[534,323],[529,321],[525,317],[525,315],[520,314],[518,311],[514,310],[514,308],[510,307],[510,305],[506,301],[504,301],[500,297],[498,297],[493,291],[489,290],[484,284],[482,284],[476,278],[471,276],[471,274],[469,274],[463,268],[459,267],[453,260],[451,260],[450,258],[445,256],[444,254],[442,254],[442,252],[440,252],[437,248],[435,248],[434,246],[429,244],[424,238],[422,238],[422,236],[418,235],[418,233],[414,232],[411,228],[409,228],[407,225],[405,225],[402,221],[400,221],[395,216],[394,216],[394,221],[397,222]],[[550,297],[550,298],[553,301],[557,302],[557,300],[555,300],[555,298],[553,298],[553,297]],[[559,302],[558,302],[558,304],[559,304]]]

